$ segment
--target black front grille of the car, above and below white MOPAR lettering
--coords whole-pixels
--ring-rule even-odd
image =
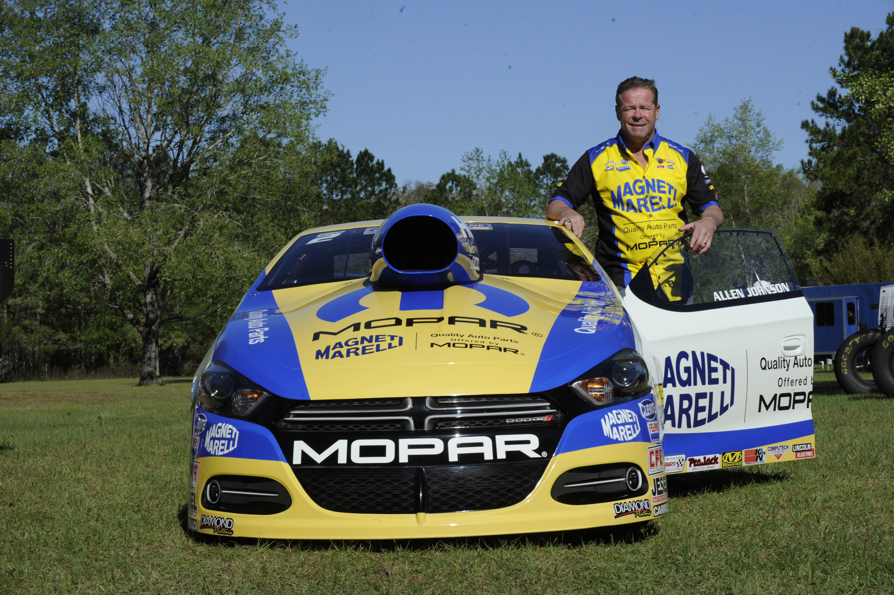
[[[403,399],[308,401],[293,404],[275,425],[283,444],[294,439],[477,435],[552,426],[556,439],[566,414],[544,395],[473,395]],[[528,430],[531,431],[531,430]],[[342,434],[344,432],[344,434]],[[321,444],[330,444],[327,440]],[[319,451],[322,452],[322,451]],[[549,458],[455,465],[293,465],[318,506],[342,513],[451,513],[512,506],[543,477]]]

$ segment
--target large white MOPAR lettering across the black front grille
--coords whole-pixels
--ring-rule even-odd
[[[548,456],[546,451],[536,452],[539,446],[540,439],[534,434],[504,434],[493,438],[456,436],[447,440],[446,448],[441,438],[400,438],[396,441],[389,438],[365,438],[351,441],[350,446],[347,439],[342,439],[336,440],[322,452],[317,452],[304,440],[295,440],[291,463],[299,465],[314,461],[321,464],[327,460],[332,463],[331,457],[334,456],[337,464],[347,464],[350,455],[350,462],[357,464],[393,463],[395,458],[398,463],[420,464],[415,457],[441,455],[438,458],[443,461],[445,451],[450,463],[458,463],[460,455],[483,455],[485,461],[493,461],[494,455],[498,460],[505,459],[511,452],[521,453],[532,459]],[[414,457],[412,461],[411,457]]]

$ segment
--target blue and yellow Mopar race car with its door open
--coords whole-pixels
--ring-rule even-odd
[[[635,523],[668,512],[667,473],[813,457],[812,314],[778,237],[644,237],[622,298],[552,221],[417,204],[299,234],[193,380],[190,529]]]

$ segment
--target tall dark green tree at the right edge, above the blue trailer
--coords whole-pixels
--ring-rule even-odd
[[[890,72],[894,72],[894,13],[873,39],[871,31],[852,28],[844,36],[840,69],[832,78],[849,92],[832,87],[811,106],[825,118],[821,126],[805,120],[809,158],[802,163],[817,191],[817,227],[825,232],[827,256],[862,237],[894,242],[894,168]]]

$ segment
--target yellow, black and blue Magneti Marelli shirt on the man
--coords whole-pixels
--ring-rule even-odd
[[[713,183],[695,153],[658,131],[643,150],[648,157],[645,170],[619,132],[588,149],[551,199],[579,208],[593,196],[599,225],[595,256],[621,287],[687,223],[684,204],[696,215],[718,204]]]

